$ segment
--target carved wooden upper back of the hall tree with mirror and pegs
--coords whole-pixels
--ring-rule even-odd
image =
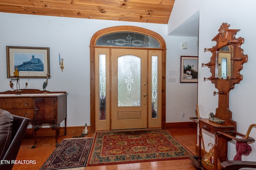
[[[243,76],[240,71],[243,69],[243,64],[247,63],[248,56],[244,55],[244,50],[241,49],[244,38],[236,38],[236,33],[240,29],[229,29],[229,27],[228,23],[222,23],[218,29],[219,33],[212,39],[217,44],[212,48],[205,48],[205,52],[210,51],[212,53],[210,62],[202,65],[208,66],[212,73],[211,77],[204,79],[215,84],[218,89],[215,94],[221,94],[218,95],[219,101],[215,117],[236,126],[236,122],[232,120],[232,112],[229,110],[229,92],[234,89],[235,84],[242,80]],[[223,64],[226,64],[226,68]],[[222,70],[223,68],[226,70]]]

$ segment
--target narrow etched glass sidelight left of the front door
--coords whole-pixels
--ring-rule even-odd
[[[99,55],[100,120],[106,120],[106,55]]]

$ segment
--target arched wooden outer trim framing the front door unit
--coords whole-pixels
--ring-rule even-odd
[[[91,133],[95,132],[95,111],[96,111],[96,104],[95,104],[95,48],[96,47],[104,47],[104,46],[97,46],[96,41],[103,35],[109,34],[109,33],[115,33],[115,32],[122,32],[122,31],[131,31],[136,33],[142,33],[144,35],[149,35],[150,37],[153,37],[156,39],[159,44],[160,48],[162,50],[162,99],[161,99],[161,114],[162,114],[162,123],[161,127],[162,129],[166,129],[166,43],[161,35],[158,33],[151,31],[149,29],[145,29],[142,27],[134,27],[134,26],[116,26],[116,27],[108,27],[105,29],[101,29],[94,33],[92,36],[92,39],[90,41],[90,131]],[[109,46],[105,46],[108,47]],[[131,48],[131,47],[111,47],[111,48]],[[134,48],[134,47],[133,47]],[[153,48],[147,48],[143,47],[143,49],[153,49]]]

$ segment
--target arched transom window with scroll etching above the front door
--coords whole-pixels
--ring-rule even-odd
[[[153,37],[136,32],[122,31],[102,35],[96,41],[99,46],[161,48]]]

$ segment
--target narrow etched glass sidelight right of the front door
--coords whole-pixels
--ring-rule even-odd
[[[152,56],[152,118],[158,117],[157,106],[158,106],[158,56]]]

